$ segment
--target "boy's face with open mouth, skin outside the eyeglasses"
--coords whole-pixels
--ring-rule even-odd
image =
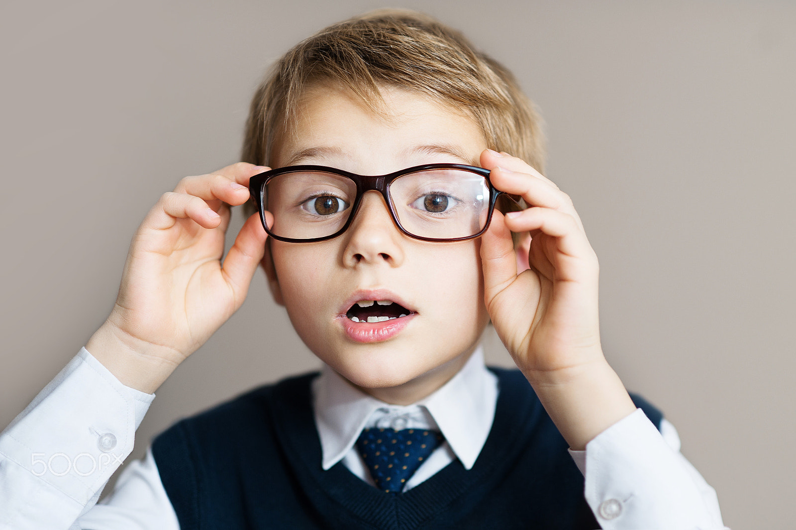
[[[345,89],[311,88],[295,129],[275,143],[273,166],[316,164],[362,175],[434,162],[478,166],[486,140],[473,119],[415,92],[382,94],[389,119]],[[341,376],[380,399],[411,403],[461,368],[489,320],[479,247],[478,239],[405,236],[370,191],[341,236],[271,240],[275,295],[306,345]],[[412,314],[377,324],[345,316],[355,302],[373,299],[399,302]]]

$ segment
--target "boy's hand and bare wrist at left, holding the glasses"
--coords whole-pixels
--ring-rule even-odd
[[[86,345],[123,384],[154,392],[243,304],[267,234],[249,216],[222,265],[228,205],[246,202],[249,178],[267,169],[239,162],[185,177],[150,209],[111,315]]]

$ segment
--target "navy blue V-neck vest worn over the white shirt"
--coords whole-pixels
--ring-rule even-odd
[[[455,460],[400,495],[341,462],[322,470],[310,399],[317,373],[181,420],[152,444],[181,530],[599,528],[567,442],[525,376],[490,369],[500,393],[473,468]],[[661,413],[631,397],[660,427]]]

